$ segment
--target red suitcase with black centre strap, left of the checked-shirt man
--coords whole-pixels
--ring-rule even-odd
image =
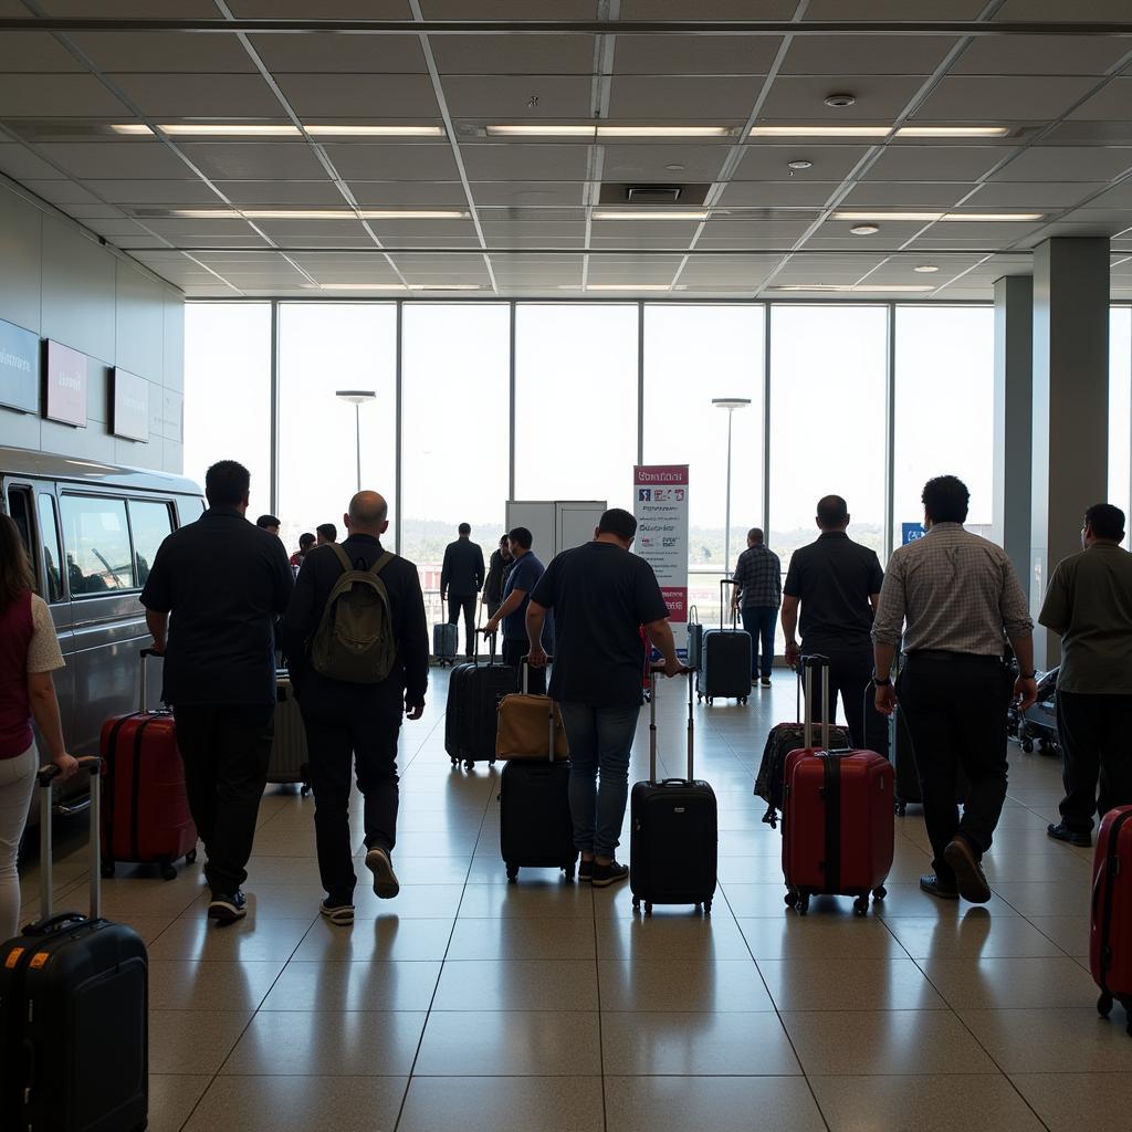
[[[892,868],[892,764],[874,751],[830,751],[829,720],[814,746],[813,674],[822,672],[829,702],[829,661],[804,660],[806,745],[786,758],[782,800],[782,874],[787,904],[805,916],[815,895],[856,897],[864,916],[868,898],[881,900]]]

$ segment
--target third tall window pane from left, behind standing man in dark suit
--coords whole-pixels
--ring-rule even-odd
[[[504,533],[511,311],[406,303],[402,336],[401,554],[417,563],[439,620],[440,566],[456,528],[471,523],[484,561]]]

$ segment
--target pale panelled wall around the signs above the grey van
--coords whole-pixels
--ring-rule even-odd
[[[166,472],[185,394],[185,297],[0,181],[0,318],[87,354],[88,419],[70,428],[0,406],[0,445]],[[151,384],[149,441],[110,434],[110,367]],[[169,412],[166,412],[169,410]]]

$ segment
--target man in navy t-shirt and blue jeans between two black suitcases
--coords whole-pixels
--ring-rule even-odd
[[[543,625],[554,610],[558,643],[550,696],[559,703],[569,743],[569,805],[574,843],[582,854],[578,880],[599,887],[628,876],[615,852],[641,712],[640,627],[663,655],[666,676],[686,671],[676,658],[657,575],[629,554],[635,537],[636,520],[627,511],[607,511],[593,542],[550,563],[526,611],[531,666],[542,668]]]

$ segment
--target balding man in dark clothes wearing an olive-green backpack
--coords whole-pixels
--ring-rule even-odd
[[[353,923],[350,788],[365,797],[366,866],[374,891],[395,897],[397,736],[418,720],[428,687],[429,640],[417,567],[385,550],[388,506],[359,491],[349,538],[303,560],[283,619],[283,643],[310,749],[318,868],[332,924]]]

